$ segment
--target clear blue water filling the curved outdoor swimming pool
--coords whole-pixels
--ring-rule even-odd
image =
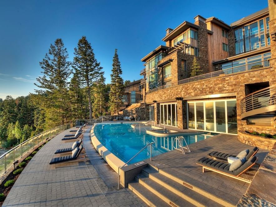
[[[94,127],[95,136],[98,140],[119,159],[126,162],[145,147],[150,142],[155,142],[152,145],[152,156],[157,156],[162,153],[173,150],[173,137],[155,137],[146,133],[145,129],[133,129],[131,124],[98,124]],[[187,144],[199,142],[208,137],[202,135],[183,136]],[[183,142],[183,139],[181,139]],[[176,147],[177,144],[174,144]],[[182,146],[183,143],[182,143]],[[133,164],[150,158],[150,146],[138,154],[130,163]]]

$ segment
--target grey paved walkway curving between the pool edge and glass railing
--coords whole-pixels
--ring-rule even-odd
[[[49,141],[31,159],[13,185],[2,206],[146,206],[128,189],[117,190],[117,174],[97,154],[84,134],[87,162],[53,169],[49,161],[56,149],[71,147],[61,141],[71,128]],[[99,176],[100,174],[100,176]]]

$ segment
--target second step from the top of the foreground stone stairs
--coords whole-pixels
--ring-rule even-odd
[[[173,193],[177,194],[178,196],[182,197],[183,199],[189,201],[191,204],[196,206],[223,206],[219,203],[197,193],[196,191],[192,190],[189,187],[179,184],[176,181],[158,173],[157,171],[153,170],[152,168],[143,168],[142,173],[145,176],[148,176],[153,181],[159,183],[164,188],[172,191]]]

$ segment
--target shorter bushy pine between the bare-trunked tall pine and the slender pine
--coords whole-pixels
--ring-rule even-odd
[[[101,74],[94,87],[93,116],[95,118],[105,115],[105,78]]]

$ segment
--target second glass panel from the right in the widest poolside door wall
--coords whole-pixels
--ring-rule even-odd
[[[225,102],[216,101],[215,102],[215,117],[216,117],[216,131],[226,132],[225,128]]]

